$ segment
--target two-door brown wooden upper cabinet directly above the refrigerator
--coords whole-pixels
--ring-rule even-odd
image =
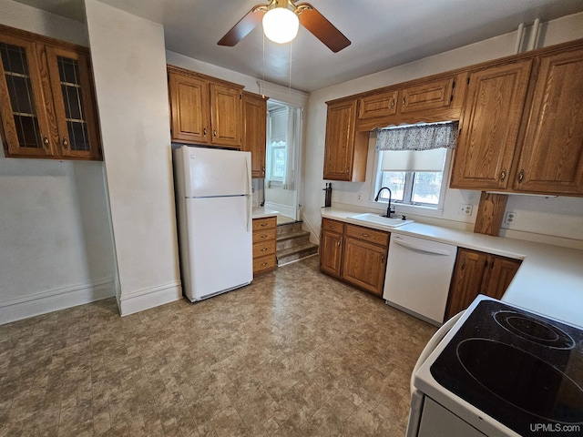
[[[172,140],[240,148],[243,86],[177,66],[168,75]]]

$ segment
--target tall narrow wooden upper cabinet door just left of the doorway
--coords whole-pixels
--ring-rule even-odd
[[[251,178],[265,178],[267,102],[261,96],[243,92],[245,132],[242,150],[251,152]]]

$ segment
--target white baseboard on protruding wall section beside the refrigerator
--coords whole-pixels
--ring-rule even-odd
[[[124,294],[121,290],[121,295],[118,296],[118,306],[120,314],[128,316],[179,299],[182,299],[182,286],[180,281],[175,281],[129,294]]]

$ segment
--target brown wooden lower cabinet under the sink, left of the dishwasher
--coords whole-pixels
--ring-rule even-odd
[[[320,269],[382,297],[389,232],[322,219]]]

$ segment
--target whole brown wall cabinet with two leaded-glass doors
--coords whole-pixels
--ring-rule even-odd
[[[88,50],[0,25],[8,158],[101,159]]]

